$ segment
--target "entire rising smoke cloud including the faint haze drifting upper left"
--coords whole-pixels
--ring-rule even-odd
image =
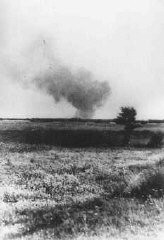
[[[57,103],[66,100],[76,109],[75,117],[92,118],[110,94],[108,82],[98,81],[86,70],[74,72],[54,55],[49,42],[36,39],[24,59],[17,59],[17,64],[5,64],[6,72],[23,87],[35,86],[35,90],[49,94]]]

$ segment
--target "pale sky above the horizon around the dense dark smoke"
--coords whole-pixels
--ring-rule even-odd
[[[94,118],[164,119],[164,0],[0,0],[0,116],[73,117],[31,84],[59,63],[109,83]]]

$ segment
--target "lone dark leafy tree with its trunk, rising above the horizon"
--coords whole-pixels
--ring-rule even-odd
[[[130,137],[136,124],[137,112],[133,107],[121,107],[121,112],[116,118],[116,123],[125,126],[124,144],[130,145]]]

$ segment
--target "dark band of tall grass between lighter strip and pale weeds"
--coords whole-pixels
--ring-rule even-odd
[[[156,136],[156,134],[154,135]],[[0,136],[3,142],[17,142],[19,144],[44,144],[69,148],[124,146],[123,130],[29,128],[21,131],[3,130],[0,131]],[[151,139],[151,131],[134,131],[131,136],[131,145],[134,147],[159,147],[159,144],[155,145],[155,140]]]

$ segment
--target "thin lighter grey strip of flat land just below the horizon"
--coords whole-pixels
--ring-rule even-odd
[[[123,126],[107,120],[73,120],[73,119],[26,119],[26,120],[0,120],[1,130],[24,130],[24,129],[96,129],[96,130],[123,130]],[[164,123],[145,123],[139,131],[164,131]]]

